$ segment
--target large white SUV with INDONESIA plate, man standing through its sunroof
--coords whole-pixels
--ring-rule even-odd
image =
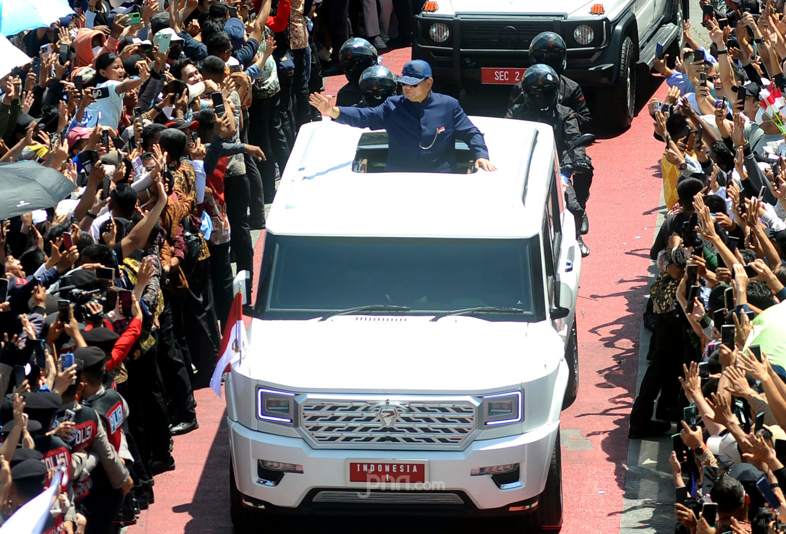
[[[562,521],[581,254],[549,126],[472,117],[498,171],[386,173],[387,133],[300,130],[250,350],[226,379],[234,525],[258,514]]]

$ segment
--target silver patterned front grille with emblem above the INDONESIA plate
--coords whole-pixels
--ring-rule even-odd
[[[469,398],[428,401],[307,399],[300,426],[318,446],[358,448],[461,448],[475,430]]]

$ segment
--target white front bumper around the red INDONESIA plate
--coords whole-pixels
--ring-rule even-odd
[[[248,429],[228,419],[236,485],[247,504],[277,513],[424,513],[439,515],[521,513],[537,506],[543,492],[559,421],[518,436],[478,440],[464,451],[314,449],[299,437]],[[423,489],[381,491],[348,482],[347,458],[427,460]],[[258,460],[295,463],[302,474],[287,473],[277,485],[258,476]],[[489,475],[471,476],[474,467],[520,463],[520,485],[500,489]],[[382,488],[386,489],[386,488]],[[513,510],[511,510],[511,507]]]

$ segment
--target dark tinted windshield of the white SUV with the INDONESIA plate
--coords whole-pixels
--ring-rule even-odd
[[[257,316],[266,319],[366,305],[407,306],[410,315],[475,306],[523,309],[517,320],[543,315],[540,274],[532,269],[540,265],[537,241],[268,234],[264,256]],[[512,320],[494,315],[502,317],[488,318]]]

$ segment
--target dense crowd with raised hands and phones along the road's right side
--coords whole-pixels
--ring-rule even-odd
[[[700,0],[710,41],[685,21],[685,48],[656,60],[669,212],[629,436],[671,434],[677,532],[786,525],[783,3]]]

